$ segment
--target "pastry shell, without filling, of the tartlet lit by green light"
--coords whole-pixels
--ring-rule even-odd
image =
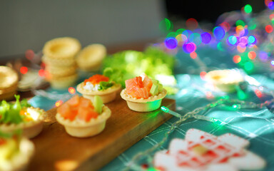
[[[163,88],[162,92],[158,95],[153,95],[147,99],[131,98],[131,95],[126,93],[126,88],[121,91],[121,97],[126,100],[128,108],[136,112],[150,112],[160,108],[162,99],[166,96],[166,89]]]

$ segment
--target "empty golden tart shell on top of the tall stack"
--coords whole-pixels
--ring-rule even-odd
[[[62,37],[47,41],[43,53],[48,58],[74,58],[81,49],[81,43],[76,38]]]

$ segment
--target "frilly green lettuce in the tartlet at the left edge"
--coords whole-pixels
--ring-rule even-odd
[[[16,98],[15,103],[8,103],[6,100],[1,101],[0,105],[0,124],[19,124],[23,122],[24,115],[20,115],[22,108],[28,108],[31,105],[26,99],[19,101],[20,95],[14,95]]]

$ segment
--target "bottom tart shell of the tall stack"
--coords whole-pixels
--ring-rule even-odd
[[[49,77],[47,80],[51,83],[51,87],[55,89],[64,89],[74,86],[77,81],[78,75],[73,74],[65,77]]]

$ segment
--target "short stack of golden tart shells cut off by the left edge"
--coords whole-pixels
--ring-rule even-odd
[[[0,100],[14,98],[19,82],[19,76],[14,69],[0,66]]]

